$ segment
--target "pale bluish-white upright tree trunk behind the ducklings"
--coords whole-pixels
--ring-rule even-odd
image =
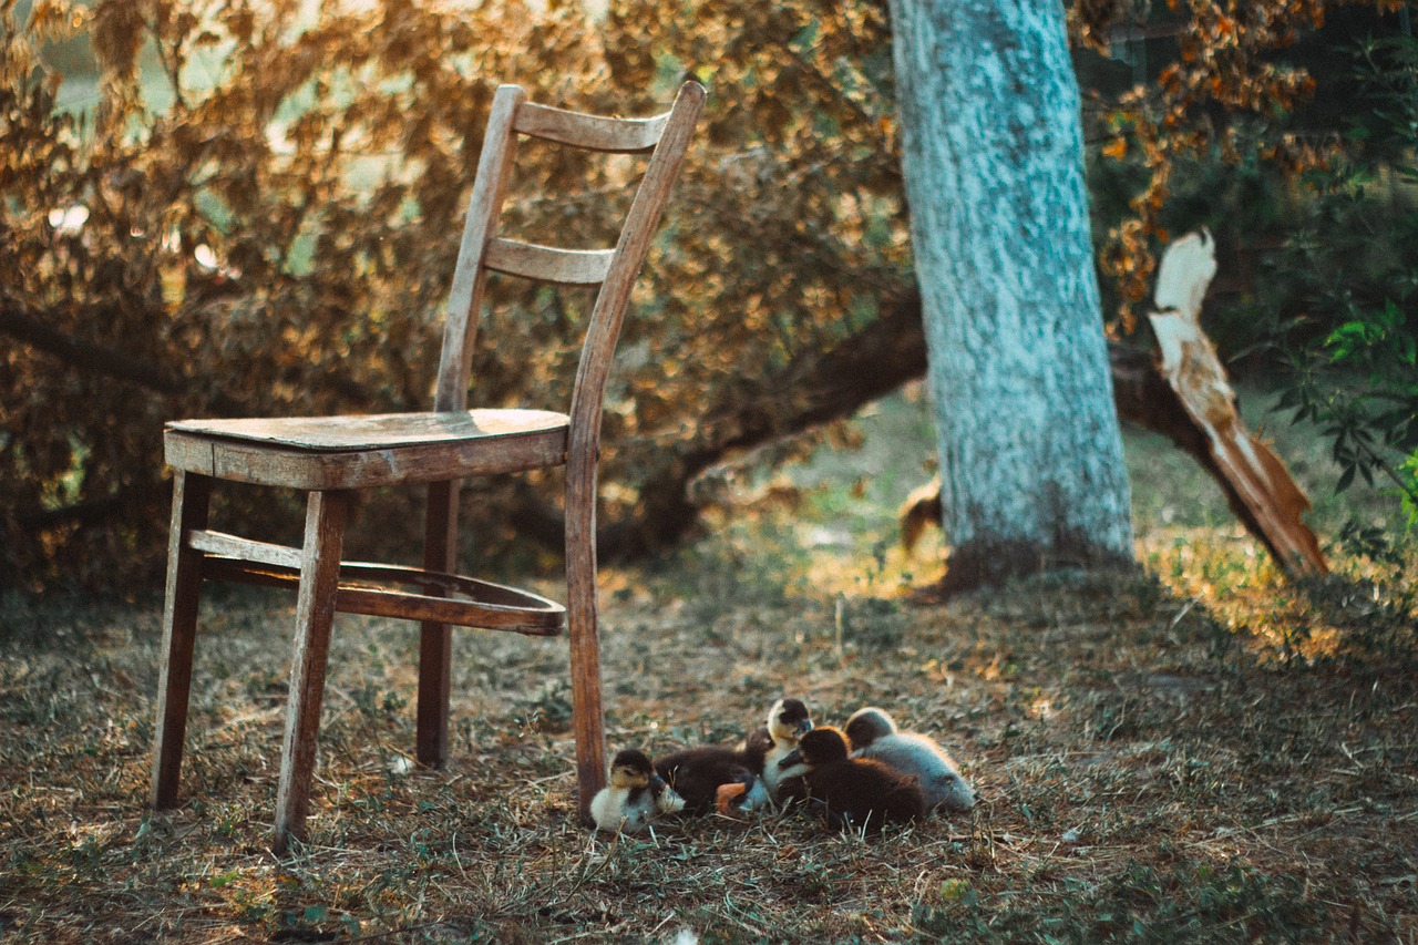
[[[1130,562],[1059,0],[892,0],[946,590]]]

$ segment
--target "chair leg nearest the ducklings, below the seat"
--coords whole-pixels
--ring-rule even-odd
[[[596,604],[596,463],[571,454],[566,470],[566,623],[571,641],[571,718],[581,823],[605,786],[605,717]]]

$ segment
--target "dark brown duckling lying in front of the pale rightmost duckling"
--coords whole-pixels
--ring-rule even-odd
[[[876,831],[886,823],[906,823],[926,814],[915,778],[902,778],[878,761],[849,756],[847,736],[831,725],[804,734],[778,765],[807,766],[801,789],[832,827]],[[797,789],[794,783],[786,788]]]

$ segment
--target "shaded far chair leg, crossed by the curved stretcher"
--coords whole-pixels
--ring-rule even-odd
[[[424,519],[424,568],[457,570],[458,481],[431,482]],[[452,678],[452,627],[425,621],[418,636],[418,735],[420,765],[442,768],[448,761],[448,697]]]

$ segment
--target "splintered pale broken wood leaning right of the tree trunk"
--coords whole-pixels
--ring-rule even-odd
[[[1302,521],[1310,501],[1285,463],[1254,437],[1236,413],[1235,392],[1201,331],[1201,299],[1217,274],[1215,243],[1202,230],[1163,254],[1149,314],[1161,350],[1161,373],[1207,437],[1217,472],[1234,490],[1266,545],[1292,578],[1324,575],[1329,565],[1314,532]]]

